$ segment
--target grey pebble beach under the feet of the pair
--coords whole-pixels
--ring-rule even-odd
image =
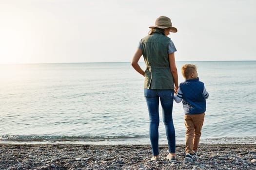
[[[0,144],[0,170],[256,170],[256,144],[202,144],[194,162],[176,151],[169,162],[167,145],[150,161],[150,145]]]

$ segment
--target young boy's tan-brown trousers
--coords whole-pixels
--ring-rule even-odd
[[[192,153],[193,151],[197,152],[201,130],[204,121],[204,115],[202,114],[187,114],[184,116],[185,126],[186,126],[186,144],[185,151],[186,153]]]

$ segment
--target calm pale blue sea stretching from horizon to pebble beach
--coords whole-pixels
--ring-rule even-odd
[[[201,143],[256,143],[256,61],[177,62],[179,82],[185,63],[210,95]],[[0,143],[149,144],[143,81],[130,63],[0,65]],[[173,118],[184,143],[181,103]]]

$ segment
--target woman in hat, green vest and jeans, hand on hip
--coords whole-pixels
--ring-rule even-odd
[[[172,118],[174,91],[178,89],[178,75],[174,52],[177,51],[172,40],[167,36],[170,32],[176,33],[169,17],[158,17],[155,26],[149,27],[149,35],[139,42],[137,51],[132,59],[132,67],[145,77],[144,96],[149,112],[149,135],[153,157],[152,161],[159,160],[158,126],[159,100],[162,106],[163,122],[168,140],[169,153],[166,158],[175,161],[175,129]],[[146,70],[138,65],[143,55]]]

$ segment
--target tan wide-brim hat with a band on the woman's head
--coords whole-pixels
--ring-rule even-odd
[[[161,29],[171,28],[171,32],[173,33],[177,32],[177,28],[172,26],[171,19],[165,16],[158,17],[155,22],[155,26],[151,26],[149,28],[161,28]]]

